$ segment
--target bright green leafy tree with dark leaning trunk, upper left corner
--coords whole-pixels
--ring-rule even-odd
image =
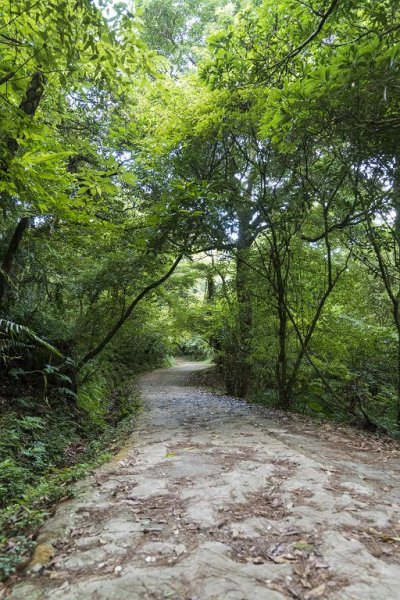
[[[85,201],[73,198],[80,182],[67,161],[76,150],[60,131],[66,115],[79,102],[93,110],[91,88],[122,92],[139,60],[146,64],[135,20],[126,10],[118,17],[107,22],[86,0],[49,2],[46,12],[39,2],[18,0],[2,11],[0,199],[5,218],[18,215],[18,223],[2,261],[0,302],[33,219],[59,218]]]

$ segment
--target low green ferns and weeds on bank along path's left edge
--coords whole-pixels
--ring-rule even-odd
[[[76,402],[29,396],[0,414],[0,580],[28,560],[52,505],[69,484],[108,460],[132,430],[140,402],[132,381],[116,386],[99,371]]]

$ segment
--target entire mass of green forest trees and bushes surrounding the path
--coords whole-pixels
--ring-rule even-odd
[[[213,356],[229,393],[398,434],[399,17],[0,2],[7,535],[6,506],[47,502],[71,448],[133,410],[118,385],[173,354]]]

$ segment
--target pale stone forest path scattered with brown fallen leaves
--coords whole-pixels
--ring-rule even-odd
[[[198,389],[204,366],[141,377],[126,450],[58,506],[55,557],[7,598],[400,599],[395,445]]]

